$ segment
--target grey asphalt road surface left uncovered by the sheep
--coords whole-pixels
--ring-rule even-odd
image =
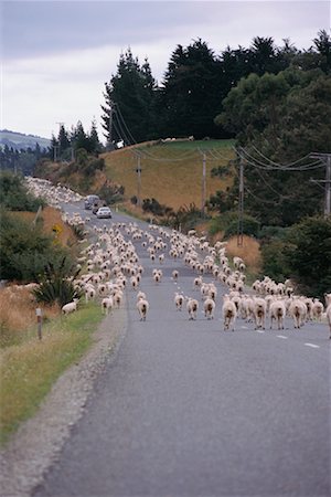
[[[195,275],[137,247],[147,321],[128,288],[121,347],[33,496],[330,496],[327,326],[295,330],[287,320],[281,332],[258,332],[238,320],[223,331],[220,284],[215,319],[200,306],[190,321],[173,294],[180,287],[200,300]],[[160,285],[153,267],[163,271]]]

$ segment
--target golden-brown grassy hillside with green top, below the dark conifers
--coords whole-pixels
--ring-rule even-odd
[[[104,154],[104,173],[125,187],[125,197],[138,193],[138,156],[141,167],[141,199],[157,199],[173,209],[202,204],[202,161],[206,156],[206,199],[224,190],[232,178],[212,178],[211,171],[234,158],[233,140],[171,141],[140,144]]]

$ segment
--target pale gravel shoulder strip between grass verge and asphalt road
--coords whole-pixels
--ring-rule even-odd
[[[119,349],[128,321],[126,302],[102,321],[94,335],[94,346],[57,380],[36,415],[23,423],[1,451],[2,497],[30,496],[43,473],[56,461],[84,413],[95,379]]]

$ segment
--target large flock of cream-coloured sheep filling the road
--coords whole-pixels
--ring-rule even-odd
[[[44,191],[50,186],[42,181],[30,180],[29,188],[34,194],[45,197]],[[61,186],[54,187],[52,199],[56,207],[61,202],[82,200]],[[84,224],[78,213],[72,216],[63,214],[63,219]],[[89,223],[90,219],[85,219],[85,224]],[[86,302],[99,299],[105,314],[121,305],[127,287],[137,294],[137,310],[140,319],[146,320],[150,304],[146,293],[140,289],[142,275],[146,273],[140,260],[148,257],[151,265],[159,266],[153,268],[150,277],[154,285],[160,285],[163,277],[160,266],[164,264],[167,254],[179,266],[184,265],[192,271],[192,293],[199,293],[200,296],[188,296],[181,292],[173,296],[174,309],[181,311],[185,306],[189,319],[196,319],[200,305],[205,318],[213,319],[220,300],[224,330],[234,330],[238,318],[252,321],[255,329],[265,329],[267,319],[270,328],[276,324],[278,329],[284,329],[286,317],[292,319],[297,329],[307,321],[327,319],[331,338],[331,294],[325,294],[324,308],[317,298],[296,295],[290,281],[276,283],[265,276],[247,287],[245,263],[237,256],[229,261],[226,242],[216,242],[211,246],[205,237],[196,236],[194,231],[185,235],[153,224],[142,230],[132,222],[113,223],[103,228],[95,225],[92,230],[96,241],[82,251],[78,268],[86,271],[75,281],[75,285],[85,295]],[[138,247],[143,256],[138,256]],[[174,269],[171,278],[178,282],[180,269]],[[217,299],[220,285],[226,288],[226,294]],[[63,306],[62,311],[72,313],[77,309],[77,305],[78,300],[74,299]]]

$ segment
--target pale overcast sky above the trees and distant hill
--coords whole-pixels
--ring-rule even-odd
[[[104,83],[128,46],[161,82],[178,44],[201,38],[215,54],[254,36],[309,49],[330,32],[330,0],[1,1],[0,128],[51,138],[95,118],[102,139]]]

